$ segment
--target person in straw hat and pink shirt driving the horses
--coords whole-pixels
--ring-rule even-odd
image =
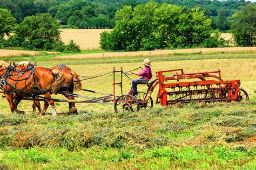
[[[140,79],[151,79],[152,78],[152,72],[151,72],[151,60],[150,59],[145,59],[143,62],[143,70],[139,73],[134,73],[134,72],[131,72],[132,74],[135,74],[135,75],[138,75],[138,76],[142,76],[140,77]],[[134,95],[137,95],[138,94],[138,91],[137,91],[137,81],[138,79],[135,79],[132,81],[132,88],[131,88],[131,91],[129,94],[132,94],[133,96]]]

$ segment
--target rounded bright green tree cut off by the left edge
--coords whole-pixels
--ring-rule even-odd
[[[12,17],[11,12],[7,9],[0,8],[0,38],[3,38],[4,34],[9,36],[15,24],[16,19]]]

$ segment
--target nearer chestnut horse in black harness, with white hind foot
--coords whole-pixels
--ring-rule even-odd
[[[62,73],[44,67],[36,67],[21,72],[21,70],[17,70],[2,61],[0,62],[0,71],[1,87],[5,92],[10,109],[18,114],[24,113],[24,111],[17,109],[17,105],[24,97],[31,97],[37,91],[37,93],[43,94],[44,97],[51,98],[51,94],[57,93],[65,81]],[[54,102],[48,99],[45,99],[44,108],[40,115],[44,114],[49,105],[52,109],[52,115],[57,115]]]

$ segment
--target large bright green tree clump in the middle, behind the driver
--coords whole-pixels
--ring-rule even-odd
[[[199,46],[210,38],[210,25],[211,19],[199,8],[155,2],[134,9],[123,6],[116,13],[113,31],[101,34],[100,45],[125,51]]]

